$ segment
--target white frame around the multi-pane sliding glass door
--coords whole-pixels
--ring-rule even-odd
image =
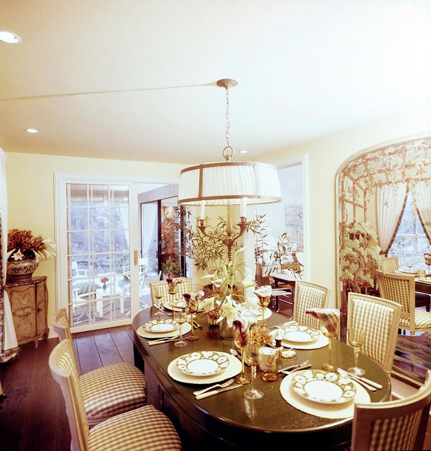
[[[134,250],[138,249],[138,246],[132,245],[138,239],[138,192],[134,189],[136,183],[166,183],[171,184],[179,183],[179,179],[175,178],[157,178],[157,177],[129,177],[118,175],[100,175],[100,174],[77,174],[77,173],[54,173],[54,195],[55,195],[55,234],[57,243],[57,258],[56,258],[56,306],[57,310],[62,307],[68,307],[69,304],[69,292],[67,278],[65,275],[68,270],[67,262],[67,245],[62,242],[62,232],[66,230],[67,218],[62,212],[66,211],[66,183],[111,183],[111,184],[129,184],[129,233],[130,233],[130,271],[131,282],[137,281],[134,286],[131,285],[131,318],[125,318],[116,320],[115,325],[121,326],[125,324],[131,324],[134,316],[139,311],[139,273],[138,265],[133,264]],[[61,204],[60,202],[64,202]],[[135,238],[133,238],[135,237]],[[133,240],[133,242],[132,242]],[[64,249],[66,248],[66,249]],[[66,302],[67,300],[67,302]],[[74,332],[83,332],[86,330],[105,329],[106,327],[112,327],[112,323],[101,322],[85,326],[75,326],[72,328]]]

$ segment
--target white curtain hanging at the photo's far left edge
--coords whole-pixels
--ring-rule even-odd
[[[0,149],[0,362],[6,362],[18,352],[17,334],[12,318],[8,293],[3,288],[6,283],[8,251],[8,191],[6,186],[6,153]]]

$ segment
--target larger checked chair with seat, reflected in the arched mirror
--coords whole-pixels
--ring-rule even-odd
[[[411,335],[415,331],[431,329],[431,313],[415,308],[414,276],[407,274],[392,274],[375,272],[377,275],[380,296],[389,301],[401,304],[401,318],[398,327],[409,330]]]

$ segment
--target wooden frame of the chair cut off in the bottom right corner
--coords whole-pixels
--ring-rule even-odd
[[[431,403],[431,371],[426,372],[423,387],[408,398],[371,404],[355,404],[352,429],[352,451],[368,451],[373,421],[397,418],[422,410],[419,427],[412,449],[422,449]]]

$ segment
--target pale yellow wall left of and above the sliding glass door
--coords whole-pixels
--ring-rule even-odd
[[[54,173],[179,178],[182,165],[26,153],[8,153],[8,228],[31,229],[55,239]],[[36,276],[48,276],[48,318],[56,311],[56,263],[42,261]]]

